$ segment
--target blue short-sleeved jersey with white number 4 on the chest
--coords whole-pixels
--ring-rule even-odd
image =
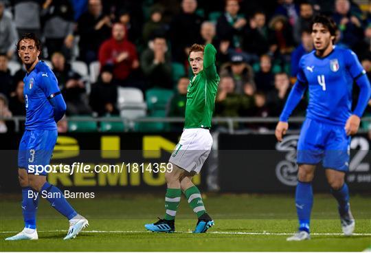
[[[351,50],[335,47],[319,58],[315,51],[302,56],[297,81],[308,86],[306,117],[344,126],[352,114],[352,85],[366,72]]]

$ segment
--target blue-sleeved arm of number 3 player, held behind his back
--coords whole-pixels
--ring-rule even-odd
[[[41,89],[43,89],[47,100],[49,100],[54,109],[54,120],[58,122],[63,118],[67,109],[65,100],[63,99],[62,94],[60,94],[58,81],[54,74],[51,73],[41,74],[39,78],[41,79]]]

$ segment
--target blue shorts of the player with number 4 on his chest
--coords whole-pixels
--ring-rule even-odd
[[[297,164],[318,164],[348,171],[350,136],[344,126],[306,119],[297,143]]]

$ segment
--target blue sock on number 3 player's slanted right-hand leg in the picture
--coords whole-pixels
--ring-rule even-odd
[[[58,188],[56,188],[56,186],[53,186],[48,182],[46,182],[41,188],[41,194],[43,194],[44,196],[49,195],[47,193],[53,193],[51,197],[47,197],[47,201],[49,201],[52,204],[52,207],[60,212],[60,214],[65,216],[67,219],[72,219],[77,215],[77,212],[65,199],[63,193]]]

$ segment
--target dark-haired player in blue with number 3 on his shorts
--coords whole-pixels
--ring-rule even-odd
[[[65,239],[75,238],[89,225],[87,219],[72,208],[63,193],[46,181],[46,173],[34,173],[32,166],[49,164],[57,139],[56,122],[66,111],[65,100],[60,94],[56,76],[43,62],[38,61],[41,43],[34,34],[24,34],[17,43],[17,51],[27,74],[25,96],[25,132],[19,144],[18,175],[22,187],[22,214],[25,228],[5,240],[36,240],[36,211],[38,200],[45,197],[60,214],[69,219]],[[38,174],[38,175],[37,175]]]

